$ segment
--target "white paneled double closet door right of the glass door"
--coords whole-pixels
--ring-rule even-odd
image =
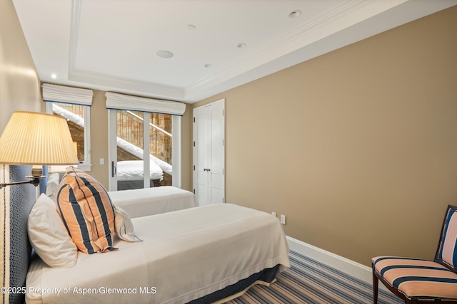
[[[194,109],[194,193],[199,205],[225,201],[225,100]]]

